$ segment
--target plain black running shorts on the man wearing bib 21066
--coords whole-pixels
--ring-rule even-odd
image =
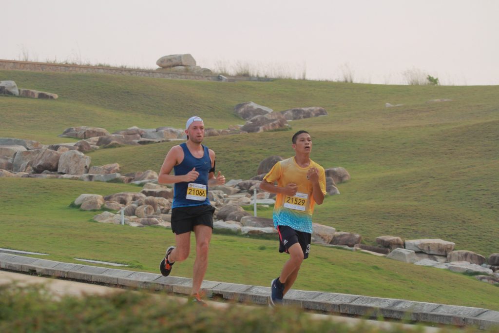
[[[177,207],[172,209],[172,231],[176,235],[194,230],[194,226],[205,225],[213,229],[213,213],[211,205]]]

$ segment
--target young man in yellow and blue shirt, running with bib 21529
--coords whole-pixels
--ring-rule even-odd
[[[280,276],[271,282],[271,306],[282,303],[298,276],[301,263],[308,258],[313,208],[315,204],[322,204],[326,194],[324,168],[310,159],[310,134],[298,131],[292,143],[295,156],[277,162],[260,183],[260,189],[277,194],[273,220],[279,234],[279,252],[290,255]]]

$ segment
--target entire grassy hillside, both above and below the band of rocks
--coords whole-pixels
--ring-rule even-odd
[[[441,238],[455,242],[456,249],[484,256],[499,252],[498,86],[218,83],[27,71],[0,71],[0,79],[59,95],[57,100],[0,97],[0,137],[45,144],[72,141],[57,138],[71,126],[110,132],[131,126],[182,128],[192,115],[203,117],[207,127],[227,128],[244,123],[233,108],[246,101],[275,111],[322,106],[328,116],[293,121],[291,131],[209,137],[205,143],[216,151],[217,168],[228,179],[247,179],[263,158],[292,155],[291,135],[306,129],[312,134],[312,158],[325,168],[344,167],[352,176],[338,186],[340,195],[327,197],[317,207],[315,222],[359,233],[366,244],[374,244],[377,236],[394,235]],[[451,101],[429,102],[435,99]],[[386,102],[403,105],[387,108]],[[117,162],[123,173],[159,171],[174,144],[102,149],[88,155],[92,165]],[[50,252],[55,260],[118,260],[155,272],[156,257],[173,240],[171,232],[161,228],[89,223],[94,213],[68,207],[80,193],[138,187],[2,178],[0,186],[3,247]],[[284,260],[275,253],[274,243],[216,235],[207,279],[266,285]],[[499,290],[471,277],[318,246],[313,251],[297,289],[498,309]],[[258,267],[263,273],[251,268],[256,257],[261,258]],[[190,267],[180,265],[175,274],[190,276]]]

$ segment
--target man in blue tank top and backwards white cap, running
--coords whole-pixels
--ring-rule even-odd
[[[172,231],[176,246],[166,250],[160,271],[168,276],[175,262],[189,257],[191,232],[196,236],[196,260],[193,268],[192,297],[203,301],[199,291],[208,267],[208,248],[213,229],[215,208],[208,199],[209,185],[225,184],[225,177],[215,176],[215,152],[203,146],[205,125],[200,117],[187,120],[187,142],[173,146],[166,155],[158,176],[159,184],[175,184],[172,204]],[[175,175],[170,175],[174,170]]]

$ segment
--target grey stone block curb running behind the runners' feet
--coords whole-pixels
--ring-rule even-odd
[[[188,278],[61,263],[8,253],[0,253],[0,270],[184,295],[190,294],[192,286],[192,279]],[[269,287],[215,281],[204,281],[201,288],[208,297],[220,296],[225,300],[261,305],[267,304],[270,294]],[[474,326],[482,330],[499,327],[499,312],[481,308],[301,290],[290,290],[283,301],[306,310],[366,318]]]

